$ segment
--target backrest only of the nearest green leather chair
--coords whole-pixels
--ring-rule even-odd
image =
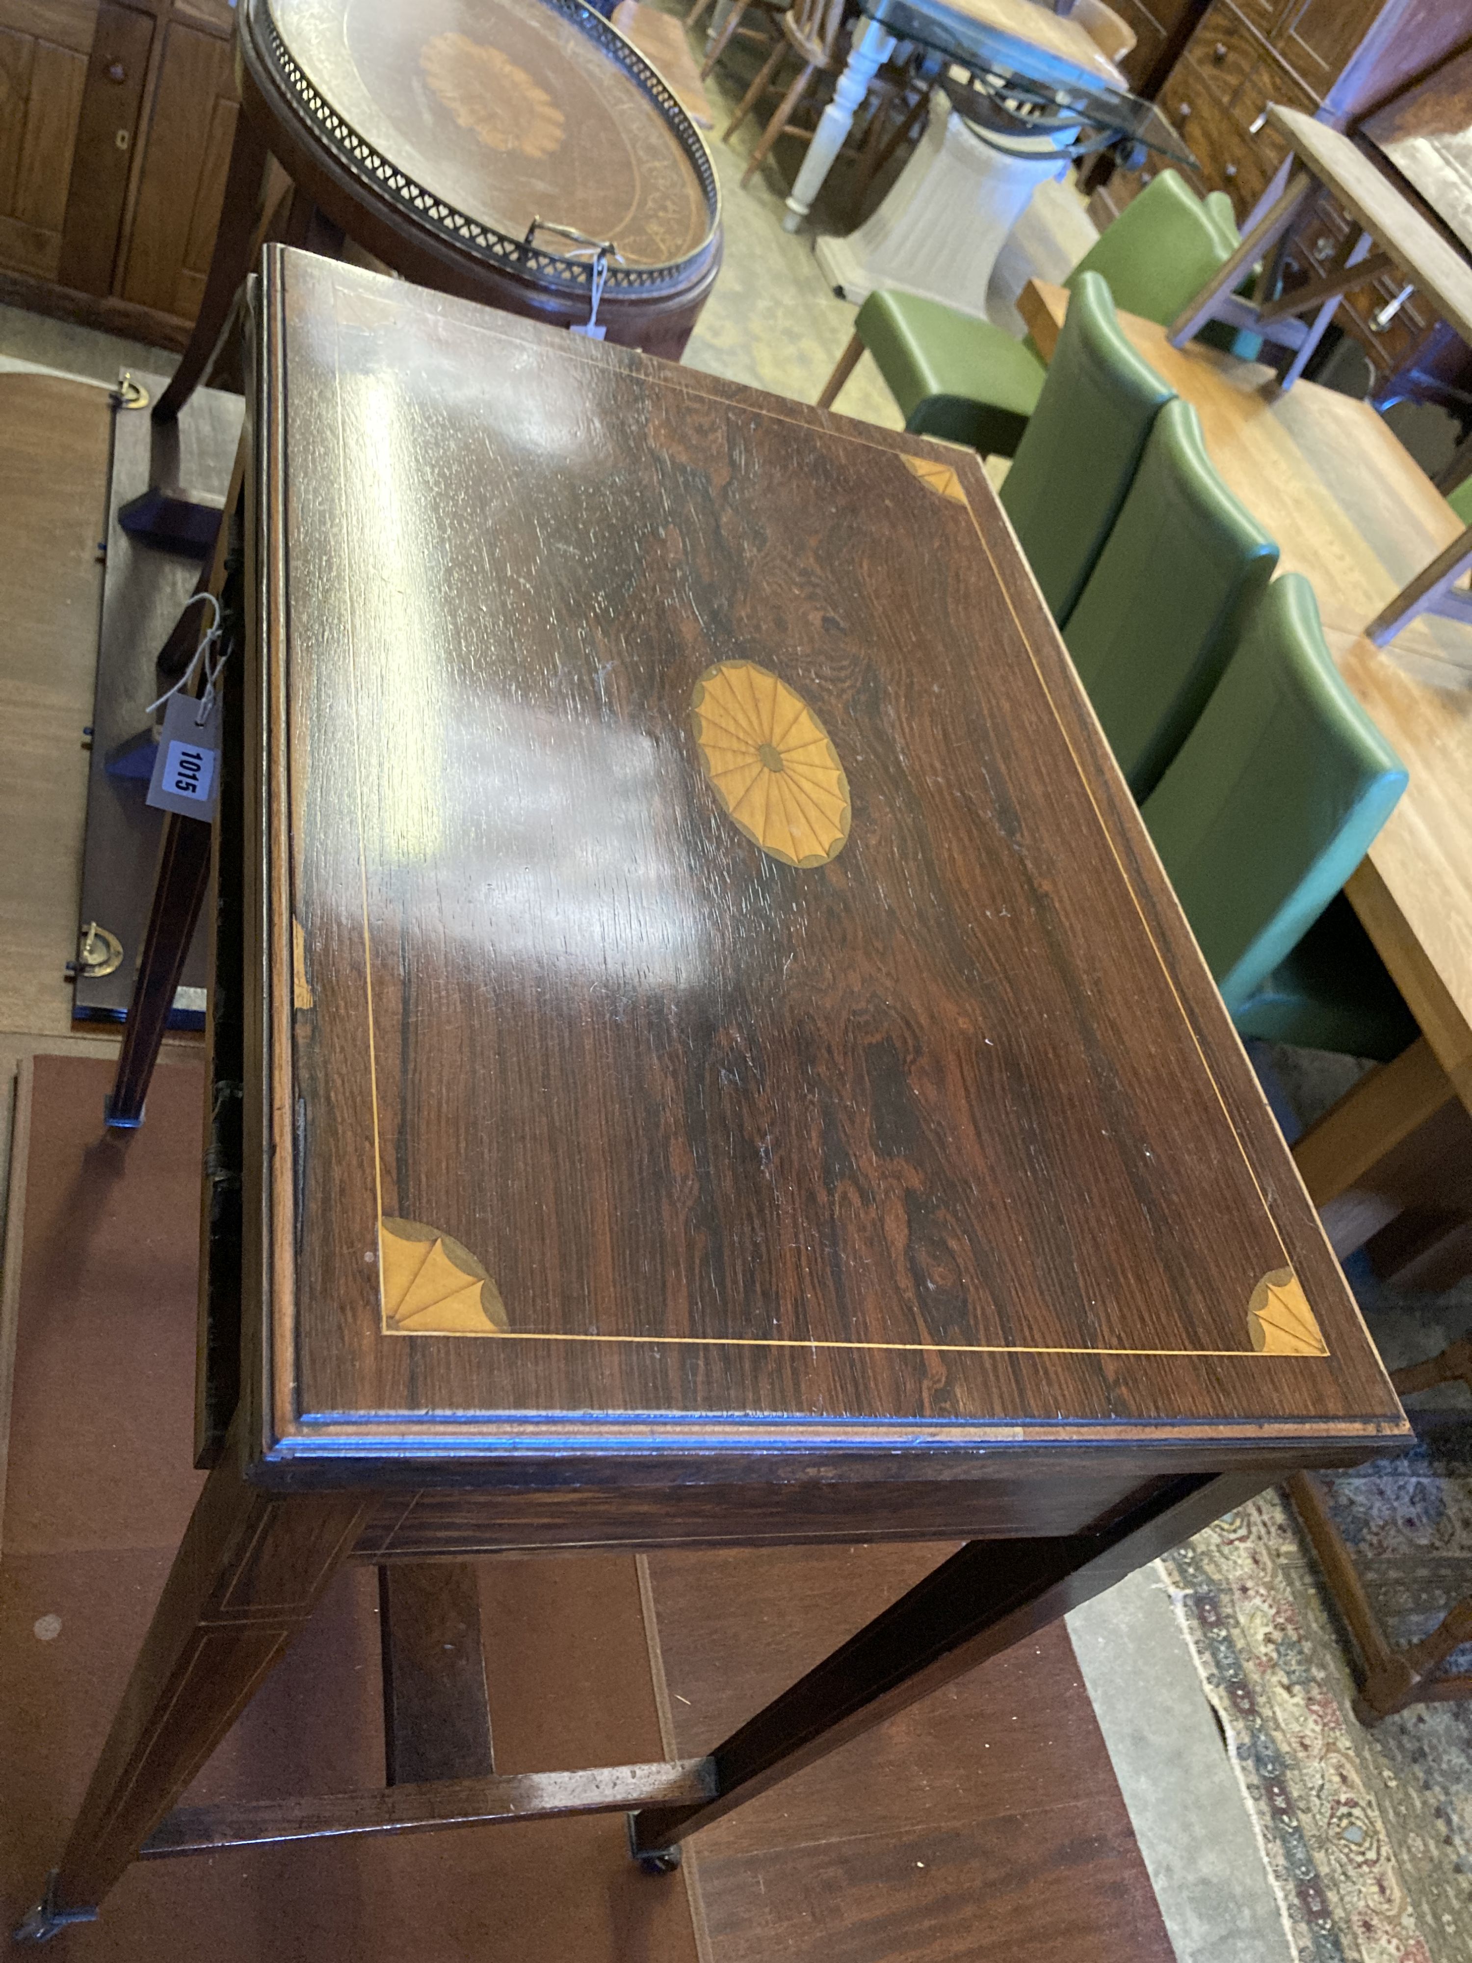
[[[1236,1011],[1364,858],[1405,769],[1335,667],[1313,587],[1264,593],[1144,822]]]

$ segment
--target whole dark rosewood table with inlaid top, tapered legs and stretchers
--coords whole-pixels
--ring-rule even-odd
[[[279,247],[253,318],[241,1390],[31,1937],[263,1839],[622,1810],[659,1871],[1405,1435],[977,459]],[[477,1555],[940,1537],[705,1759],[499,1777],[434,1671]],[[351,1559],[391,1782],[171,1812]]]

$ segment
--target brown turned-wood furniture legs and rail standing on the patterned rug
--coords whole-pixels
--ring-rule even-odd
[[[1472,1390],[1472,1341],[1450,1343],[1429,1362],[1393,1370],[1390,1380],[1407,1398],[1437,1384],[1466,1384]],[[1382,1718],[1403,1712],[1407,1704],[1460,1704],[1472,1698],[1472,1676],[1437,1674],[1454,1649],[1472,1643],[1472,1594],[1454,1602],[1431,1635],[1407,1643],[1405,1649],[1393,1649],[1370,1606],[1354,1557],[1335,1525],[1319,1480],[1309,1472],[1295,1472],[1288,1480],[1288,1496],[1319,1557],[1335,1608],[1360,1651],[1364,1678],[1354,1696],[1354,1716],[1360,1724],[1380,1724]]]

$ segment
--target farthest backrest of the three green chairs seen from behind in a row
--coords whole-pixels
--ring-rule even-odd
[[[1150,424],[1174,391],[1125,340],[1109,287],[1074,287],[1038,406],[1001,501],[1054,620],[1064,626],[1119,516]]]

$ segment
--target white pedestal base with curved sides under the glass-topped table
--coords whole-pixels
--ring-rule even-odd
[[[854,304],[877,287],[897,287],[985,320],[997,253],[1038,185],[1068,171],[1060,149],[1076,135],[1060,132],[1038,137],[1034,149],[1003,153],[968,130],[936,88],[930,126],[889,196],[858,232],[818,239],[816,261]]]

